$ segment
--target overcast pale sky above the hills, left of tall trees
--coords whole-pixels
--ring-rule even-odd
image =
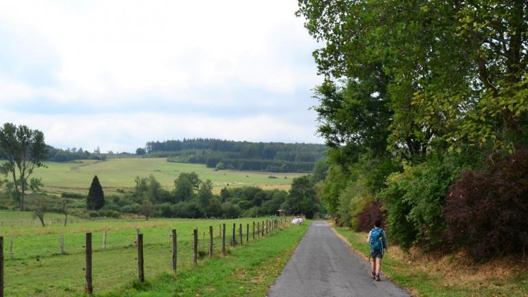
[[[56,147],[317,142],[296,0],[0,1],[0,121]]]

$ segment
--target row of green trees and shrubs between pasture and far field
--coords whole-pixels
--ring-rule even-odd
[[[322,211],[311,177],[293,180],[292,190],[263,190],[257,187],[224,187],[214,194],[214,184],[202,181],[194,172],[180,173],[174,188],[166,190],[153,175],[136,177],[135,190],[107,197],[107,203],[93,216],[113,217],[120,213],[145,217],[255,217],[291,214],[314,217]]]

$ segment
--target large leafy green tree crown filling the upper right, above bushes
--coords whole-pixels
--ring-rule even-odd
[[[390,111],[386,120],[380,118],[391,134],[389,148],[423,157],[446,145],[489,144],[500,150],[526,138],[527,5],[299,0],[298,15],[324,44],[314,52],[319,72],[345,80],[347,92],[355,94],[338,92],[343,99],[337,102],[355,103],[357,94],[369,89]],[[319,94],[336,97],[325,93],[325,84]],[[329,120],[320,113],[327,141],[335,142],[333,131],[342,129],[338,135],[347,135],[345,142],[360,137],[365,143],[355,123],[368,122],[371,111],[354,113],[350,103],[333,109],[321,102],[322,111],[333,113]]]

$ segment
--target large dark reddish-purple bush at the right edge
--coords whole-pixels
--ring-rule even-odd
[[[528,246],[528,149],[484,170],[465,171],[445,206],[448,242],[475,258],[525,254]]]

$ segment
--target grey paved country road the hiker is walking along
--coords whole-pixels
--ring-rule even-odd
[[[328,223],[314,221],[267,296],[410,296],[384,276],[373,281],[370,270],[370,264],[352,252]]]

